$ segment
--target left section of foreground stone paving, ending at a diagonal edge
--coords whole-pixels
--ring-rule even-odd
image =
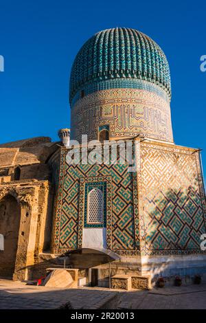
[[[98,309],[115,295],[105,289],[60,289],[0,280],[0,309],[58,309],[67,302],[73,309]]]

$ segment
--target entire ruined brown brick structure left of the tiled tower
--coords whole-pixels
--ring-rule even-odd
[[[0,233],[5,238],[5,251],[0,252],[0,274],[3,276],[29,278],[39,254],[50,248],[54,190],[48,160],[57,149],[49,137],[0,144]]]

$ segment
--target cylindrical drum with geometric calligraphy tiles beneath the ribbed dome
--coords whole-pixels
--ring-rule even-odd
[[[173,142],[170,103],[144,89],[108,89],[88,94],[71,109],[71,138],[98,139],[100,126],[110,126],[110,138],[144,135]]]

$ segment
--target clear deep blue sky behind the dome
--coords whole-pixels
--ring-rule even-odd
[[[95,32],[132,27],[168,57],[176,144],[203,148],[206,172],[205,1],[0,0],[0,142],[49,136],[70,125],[69,73]]]

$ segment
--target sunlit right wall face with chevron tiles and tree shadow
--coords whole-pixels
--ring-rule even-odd
[[[204,201],[196,155],[159,146],[141,149],[144,254],[201,252]]]

